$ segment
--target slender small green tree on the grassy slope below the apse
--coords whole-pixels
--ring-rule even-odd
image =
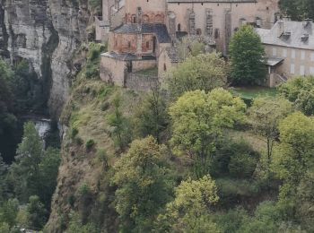
[[[123,151],[126,149],[127,144],[131,141],[130,124],[121,111],[120,96],[117,95],[113,99],[113,104],[115,108],[114,113],[110,114],[107,120],[109,125],[114,128],[112,134],[115,138],[116,145],[121,151]]]

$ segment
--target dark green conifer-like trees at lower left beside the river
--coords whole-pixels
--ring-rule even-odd
[[[9,169],[7,183],[22,203],[27,203],[31,195],[37,194],[49,208],[57,186],[59,163],[59,151],[52,148],[45,151],[35,125],[25,123],[22,143]]]

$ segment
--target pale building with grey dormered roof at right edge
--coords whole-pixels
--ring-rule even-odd
[[[285,82],[294,75],[314,74],[314,24],[285,18],[270,30],[257,29],[266,47],[269,85]]]

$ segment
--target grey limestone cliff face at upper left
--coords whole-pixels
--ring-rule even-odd
[[[87,0],[0,0],[0,54],[27,59],[59,116],[71,81],[71,58],[87,39]]]

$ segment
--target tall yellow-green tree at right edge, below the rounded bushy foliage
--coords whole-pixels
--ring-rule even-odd
[[[283,179],[281,200],[295,196],[310,166],[313,165],[314,120],[300,112],[287,116],[279,124],[280,144],[275,147],[273,170]]]

